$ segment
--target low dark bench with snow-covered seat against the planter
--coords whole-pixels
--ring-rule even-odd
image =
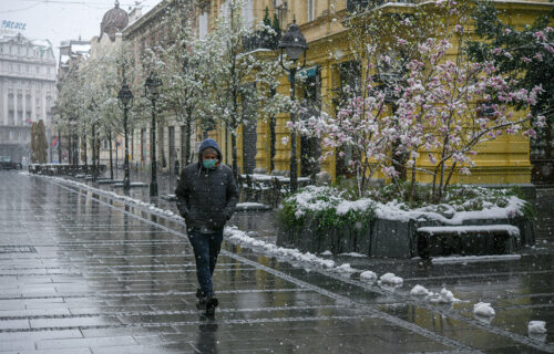
[[[432,256],[509,254],[520,244],[520,229],[512,225],[437,226],[417,229],[418,253]]]

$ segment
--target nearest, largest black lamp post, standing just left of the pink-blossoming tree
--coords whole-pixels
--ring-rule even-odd
[[[293,21],[293,24],[288,27],[287,32],[279,41],[280,49],[280,65],[285,71],[288,72],[288,80],[290,82],[290,100],[295,101],[295,76],[297,70],[302,70],[306,66],[306,50],[308,45],[306,44],[306,38],[300,32],[298,24],[296,24],[296,20]],[[283,61],[283,58],[287,56],[293,61],[293,65],[290,67],[286,67]],[[304,63],[300,67],[297,66],[297,60],[304,53]],[[290,131],[290,191],[295,192],[298,189],[298,168],[296,164],[296,133],[295,133],[295,113],[290,112],[290,122],[293,123],[293,129]]]

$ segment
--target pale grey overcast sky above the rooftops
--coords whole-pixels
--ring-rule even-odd
[[[145,13],[161,0],[141,2]],[[0,0],[0,24],[3,20],[27,23],[21,33],[29,39],[50,40],[58,58],[61,41],[99,35],[102,17],[114,3],[114,0]],[[134,3],[120,0],[120,8],[129,10]]]

